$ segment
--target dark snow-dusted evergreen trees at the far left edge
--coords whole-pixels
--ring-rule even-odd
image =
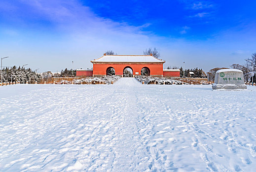
[[[27,81],[32,84],[40,82],[41,75],[37,74],[35,71],[32,71],[30,68],[25,69],[23,67],[13,66],[11,68],[2,69],[2,82],[21,82],[26,83]],[[0,75],[1,75],[0,73]]]

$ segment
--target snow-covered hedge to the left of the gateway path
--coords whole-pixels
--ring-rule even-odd
[[[61,80],[56,84],[111,84],[111,81],[116,82],[119,76],[103,76],[103,77],[88,77],[88,78],[75,78],[73,81]]]

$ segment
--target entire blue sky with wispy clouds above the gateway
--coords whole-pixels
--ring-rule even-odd
[[[256,53],[254,0],[1,0],[4,66],[91,68],[156,47],[164,67],[229,67]],[[72,65],[72,61],[74,61]]]

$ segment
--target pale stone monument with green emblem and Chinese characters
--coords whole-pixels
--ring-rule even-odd
[[[247,89],[244,74],[238,69],[220,69],[215,74],[213,89]]]

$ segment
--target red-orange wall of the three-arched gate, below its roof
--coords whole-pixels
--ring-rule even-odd
[[[131,67],[133,70],[133,75],[139,72],[137,75],[141,75],[141,70],[147,67],[150,71],[150,75],[163,76],[163,63],[94,63],[93,64],[93,76],[94,75],[106,75],[107,69],[113,67],[115,70],[115,75],[123,75],[123,70],[125,67]]]

